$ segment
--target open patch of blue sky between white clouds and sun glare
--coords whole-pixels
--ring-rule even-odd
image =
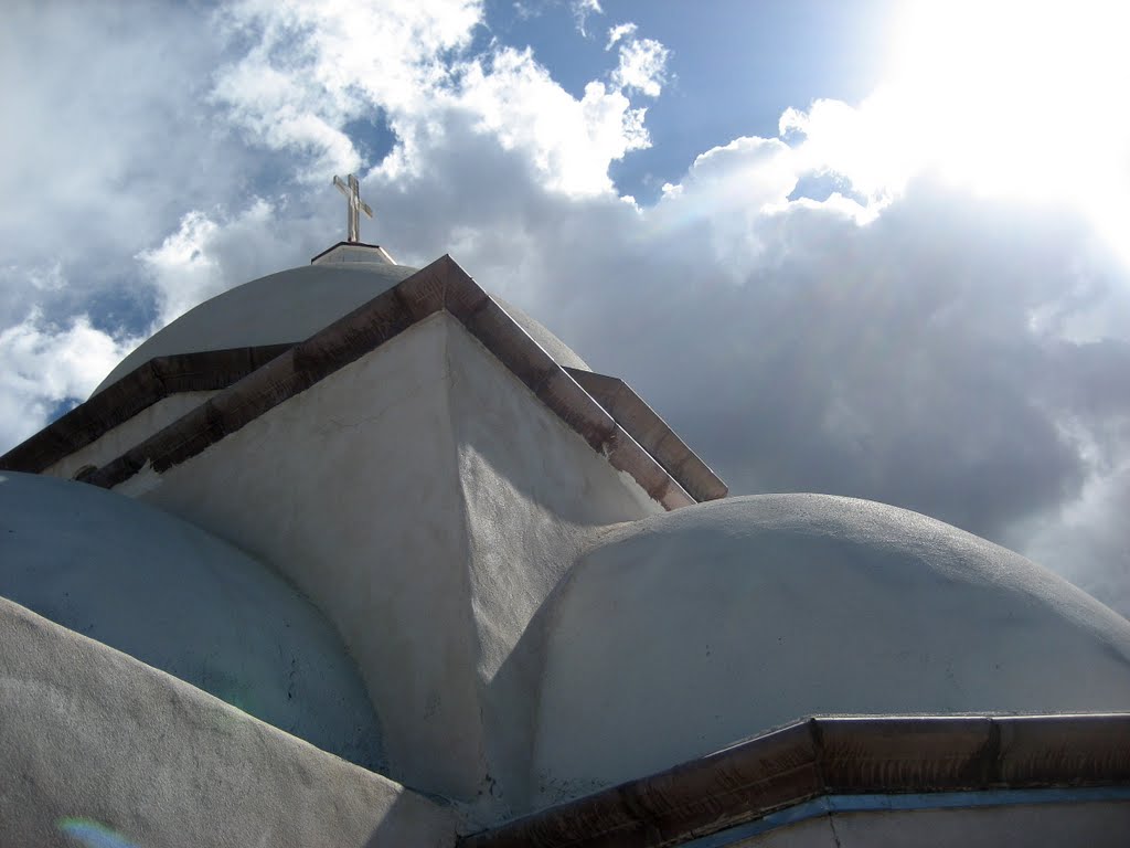
[[[652,202],[703,150],[740,136],[776,133],[781,113],[815,97],[849,102],[870,94],[881,76],[890,0],[694,3],[603,2],[580,37],[567,3],[487,3],[489,27],[507,43],[529,45],[574,96],[594,68],[607,67],[609,24],[634,23],[670,50],[669,83],[647,110],[652,146],[611,166],[616,187]]]

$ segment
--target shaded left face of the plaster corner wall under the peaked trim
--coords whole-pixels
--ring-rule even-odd
[[[334,623],[392,777],[466,797],[485,764],[444,321],[138,477],[144,499],[270,562]]]

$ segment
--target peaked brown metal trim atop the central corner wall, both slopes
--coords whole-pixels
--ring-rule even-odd
[[[86,478],[105,488],[146,466],[167,470],[445,310],[567,426],[667,509],[695,500],[611,415],[449,256],[319,330]],[[124,381],[122,381],[124,382]],[[114,391],[118,383],[103,393]],[[99,395],[101,397],[101,395]],[[88,401],[88,403],[93,403]]]

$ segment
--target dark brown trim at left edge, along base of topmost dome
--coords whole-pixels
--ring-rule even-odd
[[[0,470],[40,474],[138,413],[184,391],[224,389],[292,345],[157,356],[0,457]]]

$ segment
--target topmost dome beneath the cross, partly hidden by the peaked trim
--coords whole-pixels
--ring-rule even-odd
[[[304,341],[416,270],[388,262],[331,262],[290,268],[244,283],[189,310],[142,341],[92,395],[156,356]],[[540,323],[495,300],[560,365],[590,370]]]

